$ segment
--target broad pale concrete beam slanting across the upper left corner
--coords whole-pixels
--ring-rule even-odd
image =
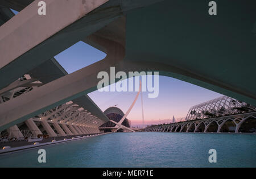
[[[45,1],[49,15],[38,15],[38,1],[34,1],[0,27],[0,69],[109,0]]]

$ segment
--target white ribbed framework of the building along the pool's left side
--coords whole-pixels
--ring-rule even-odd
[[[0,103],[13,100],[19,95],[28,93],[42,85],[43,83],[38,78],[25,74],[6,88],[0,90]],[[44,113],[28,119],[24,123],[29,128],[31,136],[36,137],[42,135],[44,131],[49,136],[98,133],[100,132],[98,126],[105,123],[105,121],[92,115],[76,103],[69,101],[44,111]],[[7,133],[10,138],[23,139],[24,135],[22,133],[27,130],[19,130],[19,126],[22,126],[22,124],[10,127],[2,132],[2,135]],[[41,127],[39,128],[39,126]]]

